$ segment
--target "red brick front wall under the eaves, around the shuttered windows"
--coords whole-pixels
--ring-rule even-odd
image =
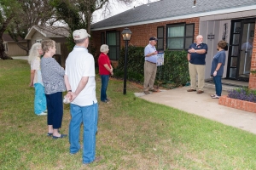
[[[168,24],[175,24],[175,23],[186,23],[191,24],[195,23],[195,37],[199,33],[199,18],[191,18],[191,19],[183,19],[183,20],[170,20],[165,22],[158,22],[153,24],[144,24],[140,26],[129,26],[129,29],[132,32],[131,35],[131,44],[137,47],[145,47],[148,45],[149,37],[157,37],[157,27],[164,26],[165,27],[165,34],[166,34],[166,25]],[[125,29],[125,27],[116,28],[116,29],[109,29],[109,30],[102,30],[102,31],[92,31],[92,44],[94,48],[96,48],[96,55],[100,53],[101,47],[101,33],[106,31],[120,31],[120,33]],[[106,34],[105,34],[106,35]],[[164,35],[166,37],[166,35]],[[125,41],[123,41],[122,35],[120,35],[120,46],[121,48],[125,46]],[[165,38],[165,46],[166,47],[166,38]]]

